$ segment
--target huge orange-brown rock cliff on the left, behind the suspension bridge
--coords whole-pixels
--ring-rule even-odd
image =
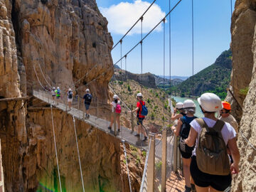
[[[95,0],[0,0],[0,97],[32,95],[48,85],[83,95],[89,87],[109,99],[112,38]],[[0,102],[6,191],[58,190],[50,110],[33,98]],[[60,178],[65,191],[82,191],[73,119],[53,110]],[[86,191],[119,191],[117,140],[77,122]],[[72,189],[72,190],[71,190]]]

